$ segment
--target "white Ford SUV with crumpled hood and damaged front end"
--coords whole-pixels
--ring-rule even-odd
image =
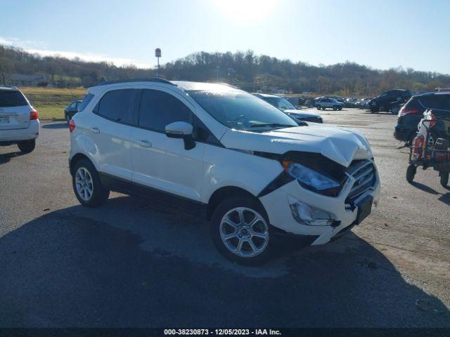
[[[69,124],[79,202],[110,190],[165,201],[211,220],[226,258],[256,265],[278,234],[318,245],[378,201],[371,147],[358,131],[293,119],[224,84],[103,82]]]

